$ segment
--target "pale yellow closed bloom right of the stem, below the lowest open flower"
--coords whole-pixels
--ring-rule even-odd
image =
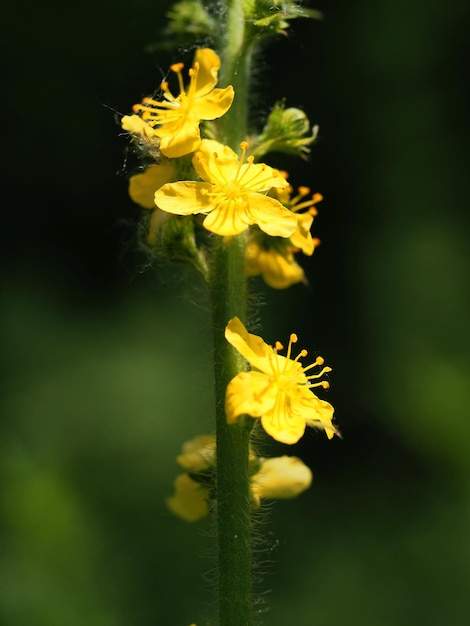
[[[295,456],[260,459],[260,463],[251,483],[251,493],[257,503],[260,498],[295,498],[312,484],[311,470]]]

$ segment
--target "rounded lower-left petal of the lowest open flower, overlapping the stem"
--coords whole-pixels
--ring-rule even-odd
[[[272,409],[275,400],[275,389],[266,374],[240,372],[227,385],[225,394],[227,422],[233,424],[240,415],[259,417]]]

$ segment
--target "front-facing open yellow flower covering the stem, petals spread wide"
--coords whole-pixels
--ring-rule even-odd
[[[295,213],[266,195],[271,188],[288,183],[264,163],[245,162],[248,144],[242,142],[241,159],[228,146],[203,139],[193,157],[197,174],[205,182],[183,181],[163,185],[155,193],[155,204],[169,213],[207,213],[204,226],[217,235],[238,235],[257,224],[271,236],[290,237],[297,228]]]

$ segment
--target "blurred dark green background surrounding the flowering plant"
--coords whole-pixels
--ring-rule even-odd
[[[1,9],[0,622],[178,626],[211,616],[210,525],[164,500],[211,430],[203,286],[148,267],[119,114],[177,53],[167,2]],[[295,184],[325,200],[310,285],[255,282],[266,340],[295,330],[333,367],[344,438],[266,442],[312,468],[272,507],[260,621],[470,620],[467,3],[314,5],[259,65],[320,125]],[[283,162],[283,167],[286,165]],[[264,595],[263,595],[264,594]]]

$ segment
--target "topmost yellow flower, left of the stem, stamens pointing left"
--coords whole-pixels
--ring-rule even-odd
[[[144,98],[142,104],[133,106],[134,113],[138,115],[126,115],[121,120],[124,130],[144,140],[151,141],[158,137],[162,154],[170,158],[193,152],[201,141],[200,121],[214,120],[224,115],[234,97],[231,85],[225,89],[214,89],[220,59],[210,48],[196,50],[186,89],[183,84],[183,67],[183,63],[175,63],[170,67],[178,77],[179,96],[175,97],[169,90],[168,82],[163,81],[162,101]]]

